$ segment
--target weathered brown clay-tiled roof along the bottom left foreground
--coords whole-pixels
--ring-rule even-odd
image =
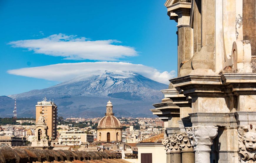
[[[0,148],[0,162],[16,162],[16,163],[27,163],[27,162],[44,162],[44,163],[64,163],[64,162],[75,162],[75,163],[102,163],[102,162],[121,162],[129,163],[116,153],[106,152],[87,152],[87,151],[70,151],[70,150],[49,150],[49,149],[34,149],[34,148]]]

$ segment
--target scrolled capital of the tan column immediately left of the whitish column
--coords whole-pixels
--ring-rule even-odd
[[[181,151],[193,151],[193,146],[186,132],[180,132],[176,135],[177,141],[180,143]]]

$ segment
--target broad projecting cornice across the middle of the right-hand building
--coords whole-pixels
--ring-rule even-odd
[[[174,87],[183,90],[179,93],[190,97],[230,97],[256,94],[256,73],[187,75],[169,81]]]

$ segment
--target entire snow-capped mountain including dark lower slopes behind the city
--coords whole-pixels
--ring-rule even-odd
[[[168,85],[127,71],[97,71],[42,90],[0,97],[0,117],[12,116],[14,98],[18,117],[34,117],[44,96],[54,99],[63,117],[102,117],[109,97],[117,116],[152,117],[149,109],[163,98]],[[3,98],[4,100],[1,100]]]

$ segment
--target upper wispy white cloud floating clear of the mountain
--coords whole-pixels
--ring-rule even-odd
[[[121,42],[117,40],[92,41],[85,37],[59,33],[41,39],[12,41],[9,44],[15,48],[26,48],[34,53],[62,56],[69,60],[118,61],[119,58],[138,55],[133,47],[113,43]]]

